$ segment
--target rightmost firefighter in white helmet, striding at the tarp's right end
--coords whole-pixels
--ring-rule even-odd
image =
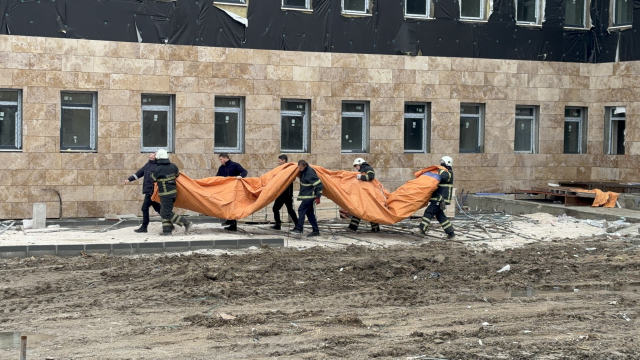
[[[422,222],[420,222],[418,227],[422,235],[426,234],[429,224],[431,224],[431,219],[435,216],[447,234],[447,238],[451,240],[455,238],[455,233],[453,232],[451,221],[449,221],[447,215],[444,214],[444,209],[446,205],[451,204],[451,196],[453,193],[453,159],[449,156],[443,156],[442,159],[440,159],[440,166],[445,169],[438,169],[437,174],[431,172],[422,174],[422,176],[431,176],[440,181],[440,183],[438,184],[438,189],[431,195],[429,206],[427,206],[427,209],[424,211]]]

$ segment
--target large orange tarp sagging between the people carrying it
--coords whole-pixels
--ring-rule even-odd
[[[333,200],[352,215],[379,224],[394,224],[424,207],[438,188],[438,181],[420,176],[432,166],[418,171],[416,179],[389,193],[378,180],[356,179],[355,171],[331,171],[311,165],[324,184],[322,195]],[[184,173],[176,180],[175,206],[220,219],[242,219],[272,203],[296,179],[298,167],[288,163],[253,178],[234,177],[191,179]],[[159,201],[157,189],[153,200]]]

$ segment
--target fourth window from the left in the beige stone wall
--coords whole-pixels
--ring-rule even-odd
[[[244,150],[244,98],[216,96],[215,107],[214,150],[242,153]]]

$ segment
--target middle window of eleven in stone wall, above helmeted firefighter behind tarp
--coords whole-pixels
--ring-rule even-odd
[[[368,102],[342,102],[342,152],[367,152]]]

